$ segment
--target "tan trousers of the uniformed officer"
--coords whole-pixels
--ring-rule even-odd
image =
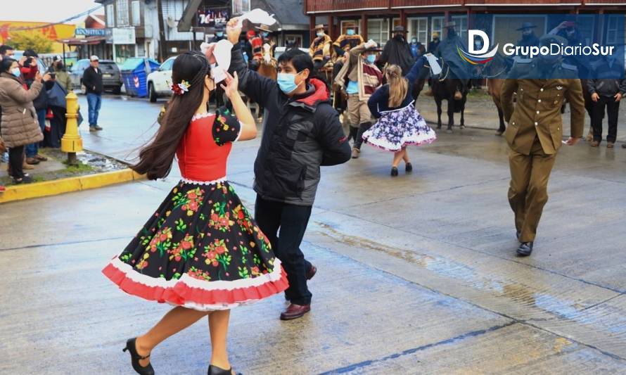
[[[539,139],[530,149],[530,155],[511,150],[511,185],[509,203],[515,213],[515,227],[520,242],[535,241],[537,225],[548,201],[548,179],[556,160],[556,153],[546,155]]]

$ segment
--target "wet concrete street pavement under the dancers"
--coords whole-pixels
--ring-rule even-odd
[[[82,126],[85,147],[132,158],[161,104],[107,96],[103,132]],[[438,136],[410,149],[410,175],[391,179],[390,154],[367,146],[323,168],[302,246],[319,268],[312,312],[279,321],[281,296],[234,310],[237,371],[626,374],[626,150],[563,147],[535,252],[516,258],[504,139],[472,128]],[[258,144],[236,144],[229,162],[250,209]],[[163,181],[0,205],[0,374],[133,373],[126,339],[169,307],[124,294],[100,269],[178,179],[174,169]],[[159,374],[205,374],[209,357],[200,321],[151,360]]]

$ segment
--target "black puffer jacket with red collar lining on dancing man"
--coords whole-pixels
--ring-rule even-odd
[[[248,69],[241,48],[232,50],[231,74],[239,89],[265,108],[265,127],[255,160],[254,189],[269,201],[313,205],[320,165],[350,160],[350,146],[326,84],[309,80],[307,92],[289,98],[276,81]]]

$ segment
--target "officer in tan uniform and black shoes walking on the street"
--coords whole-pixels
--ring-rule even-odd
[[[560,44],[563,38],[542,37],[544,43],[549,42],[546,39],[556,39]],[[527,256],[532,252],[537,225],[548,201],[548,178],[556,152],[563,144],[561,104],[564,99],[570,103],[571,132],[564,143],[573,146],[582,137],[585,102],[576,68],[563,64],[560,58],[516,61],[509,77],[511,75],[518,79],[505,80],[502,88],[504,118],[509,122],[504,138],[511,147],[509,203],[515,213],[520,241],[517,253]],[[559,78],[526,79],[528,77]],[[517,94],[514,107],[513,93]]]

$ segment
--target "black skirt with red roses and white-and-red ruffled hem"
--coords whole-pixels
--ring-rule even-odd
[[[288,287],[269,240],[228,182],[180,182],[102,272],[129,294],[202,311]]]

